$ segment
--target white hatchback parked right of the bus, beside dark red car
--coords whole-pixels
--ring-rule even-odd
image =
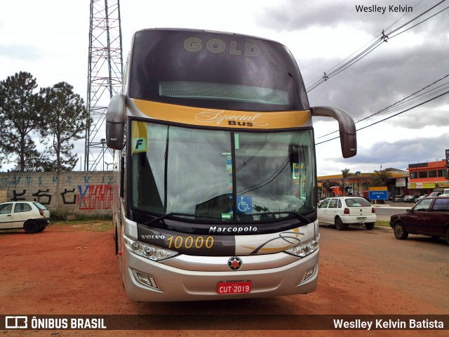
[[[337,230],[348,225],[365,225],[372,230],[376,219],[374,207],[362,197],[328,198],[318,207],[319,223],[333,224]]]

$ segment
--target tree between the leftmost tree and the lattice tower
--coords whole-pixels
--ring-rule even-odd
[[[80,95],[74,93],[73,86],[66,82],[41,88],[41,96],[45,124],[41,128],[41,136],[53,138],[47,139],[46,145],[48,153],[55,157],[54,161],[46,161],[41,165],[46,166],[46,170],[56,172],[72,171],[78,158],[76,153],[72,153],[74,144],[71,141],[83,138],[88,111]]]

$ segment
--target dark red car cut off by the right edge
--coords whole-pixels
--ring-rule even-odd
[[[407,239],[408,234],[443,237],[449,244],[449,197],[427,197],[412,209],[390,218],[396,239]]]

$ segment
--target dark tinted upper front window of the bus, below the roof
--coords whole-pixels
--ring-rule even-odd
[[[309,108],[293,56],[274,41],[142,30],[133,39],[130,70],[130,98],[227,110]]]

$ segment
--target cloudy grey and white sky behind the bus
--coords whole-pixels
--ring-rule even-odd
[[[339,140],[329,140],[337,122],[316,119],[320,176],[345,168],[406,169],[444,159],[449,149],[449,1],[122,0],[120,6],[124,58],[138,29],[211,29],[285,44],[308,88],[331,74],[309,91],[310,104],[341,107],[358,122],[358,154],[342,159]],[[394,11],[398,6],[406,11]],[[89,7],[88,0],[2,1],[0,80],[30,72],[39,87],[66,81],[86,100]],[[382,30],[389,39],[375,44]],[[76,150],[83,156],[84,143]]]

